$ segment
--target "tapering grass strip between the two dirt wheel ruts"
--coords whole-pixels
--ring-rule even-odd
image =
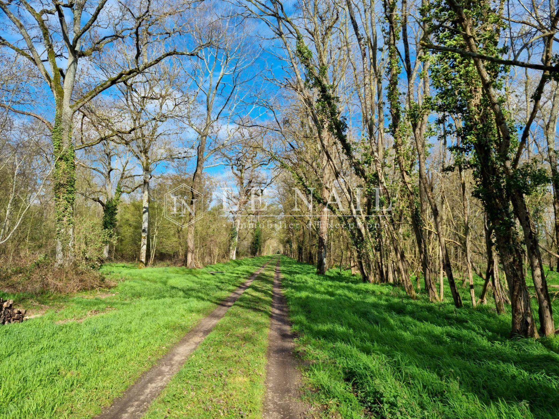
[[[273,269],[235,302],[144,419],[262,417]]]

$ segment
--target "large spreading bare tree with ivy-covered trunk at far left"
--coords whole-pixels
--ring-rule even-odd
[[[35,66],[48,86],[54,108],[49,123],[54,152],[56,208],[56,264],[73,262],[75,162],[72,139],[74,113],[113,85],[126,82],[169,56],[196,55],[203,45],[178,50],[174,35],[188,28],[188,3],[174,4],[138,0],[107,5],[107,0],[77,2],[2,2],[7,27],[0,45]],[[110,30],[105,28],[109,27]],[[13,35],[16,34],[14,41]],[[92,71],[87,77],[82,61],[95,68],[94,60],[108,50],[129,47],[125,56],[105,79]],[[18,109],[16,108],[15,111]],[[46,118],[45,118],[46,121]]]

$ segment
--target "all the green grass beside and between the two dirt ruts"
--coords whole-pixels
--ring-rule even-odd
[[[49,307],[0,327],[0,418],[93,417],[267,259],[197,270],[112,264],[103,273],[121,280],[110,290],[0,293],[18,306]],[[144,419],[262,416],[273,265]],[[559,417],[559,337],[510,339],[510,316],[497,316],[491,297],[473,309],[459,288],[465,307],[457,310],[448,289],[443,303],[423,293],[411,301],[399,287],[364,284],[347,271],[319,276],[284,257],[281,270],[307,397],[326,417]]]

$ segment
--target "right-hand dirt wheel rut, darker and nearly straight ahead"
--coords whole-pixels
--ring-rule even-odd
[[[300,419],[314,417],[311,406],[301,401],[299,361],[293,355],[293,334],[281,291],[280,259],[276,263],[272,293],[272,318],[268,334],[268,365],[264,419]]]

